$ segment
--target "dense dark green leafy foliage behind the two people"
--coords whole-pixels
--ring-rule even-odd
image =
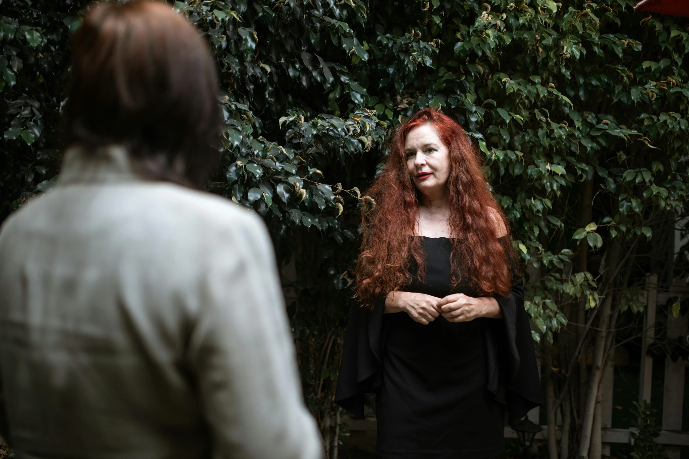
[[[524,264],[534,337],[546,337],[544,358],[560,351],[550,366],[563,373],[546,374],[548,416],[575,391],[582,403],[570,407],[578,416],[563,453],[586,440],[584,386],[595,371],[574,362],[599,332],[563,325],[590,326],[598,310],[608,325],[634,321],[646,273],[666,286],[687,274],[674,228],[686,218],[689,179],[689,22],[633,5],[171,3],[205,34],[220,72],[225,149],[209,190],[256,210],[271,230],[305,396],[329,455],[360,211],[375,205],[362,194],[387,130],[423,107],[455,116],[486,160]],[[84,7],[4,0],[0,217],[54,184],[69,36]],[[562,376],[577,371],[581,387]]]

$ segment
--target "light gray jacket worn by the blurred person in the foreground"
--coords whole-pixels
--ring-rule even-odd
[[[117,147],[2,226],[0,385],[19,458],[320,457],[265,225]]]

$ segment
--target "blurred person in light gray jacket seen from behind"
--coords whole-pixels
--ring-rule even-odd
[[[216,68],[165,3],[74,36],[59,185],[0,232],[0,435],[18,458],[321,456],[267,230],[192,189]]]

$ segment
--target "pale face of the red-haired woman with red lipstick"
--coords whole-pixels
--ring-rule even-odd
[[[450,178],[450,152],[438,131],[428,123],[419,125],[407,134],[404,142],[407,170],[416,188],[424,195],[446,193]]]

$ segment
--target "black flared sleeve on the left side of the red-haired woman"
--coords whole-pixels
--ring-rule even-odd
[[[340,375],[335,403],[357,418],[364,417],[364,394],[380,386],[382,317],[385,297],[373,307],[361,307],[352,301],[345,330]]]

